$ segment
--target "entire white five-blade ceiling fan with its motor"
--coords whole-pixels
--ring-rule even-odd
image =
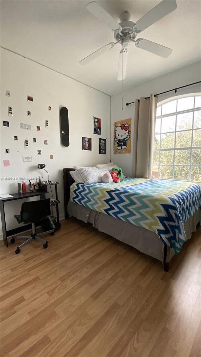
[[[119,52],[117,75],[117,80],[121,81],[126,77],[128,55],[127,46],[130,42],[133,42],[138,48],[152,52],[164,58],[171,54],[172,49],[142,38],[136,40],[136,36],[156,21],[162,19],[162,17],[170,14],[173,10],[176,10],[177,3],[175,0],[161,1],[158,5],[153,7],[153,9],[147,12],[147,14],[142,16],[136,23],[130,21],[131,15],[128,11],[124,11],[120,15],[121,22],[118,24],[118,22],[114,20],[113,17],[108,14],[108,12],[96,1],[89,2],[86,5],[86,8],[94,16],[98,17],[100,21],[104,22],[104,24],[107,25],[112,31],[114,31],[114,39],[116,42],[109,42],[107,45],[100,47],[97,51],[81,60],[79,62],[80,65],[86,65],[104,52],[113,49],[116,44],[121,44],[122,49]]]

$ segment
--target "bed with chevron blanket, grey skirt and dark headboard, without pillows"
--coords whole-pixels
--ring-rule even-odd
[[[92,223],[162,261],[165,271],[200,224],[201,187],[196,184],[136,178],[83,184],[75,182],[70,171],[74,169],[63,169],[65,219],[73,216]]]

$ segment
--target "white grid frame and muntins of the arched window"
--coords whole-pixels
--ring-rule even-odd
[[[197,111],[200,111],[201,110],[201,106],[200,107],[196,107],[195,108],[195,98],[197,96],[201,96],[201,93],[189,93],[189,94],[185,94],[185,95],[180,95],[180,96],[173,96],[171,98],[168,98],[167,100],[165,101],[162,101],[162,102],[159,102],[158,105],[157,105],[157,109],[158,107],[161,106],[161,114],[160,115],[157,115],[156,116],[156,119],[160,119],[160,132],[157,132],[156,133],[156,129],[155,129],[155,137],[156,135],[160,135],[160,147],[158,149],[156,148],[153,148],[153,154],[154,152],[158,152],[158,164],[154,164],[152,162],[152,172],[153,172],[153,168],[155,167],[158,167],[158,177],[157,178],[160,178],[160,175],[161,175],[161,167],[162,166],[171,166],[172,167],[172,178],[167,178],[166,180],[175,180],[175,181],[188,181],[188,182],[197,182],[197,183],[200,183],[199,181],[191,181],[190,178],[191,178],[191,168],[192,167],[201,167],[201,164],[197,164],[197,165],[193,165],[192,164],[192,150],[197,150],[197,149],[201,149],[201,146],[193,146],[193,132],[195,130],[201,130],[201,125],[197,128],[193,128],[193,125],[194,125],[194,115],[195,115],[195,112]],[[180,110],[180,111],[177,111],[177,107],[178,107],[178,100],[179,99],[183,99],[183,98],[189,98],[189,97],[194,97],[194,100],[193,100],[193,108],[191,109],[186,109],[186,110]],[[162,115],[162,106],[164,104],[167,104],[169,102],[172,102],[172,101],[177,101],[176,102],[176,112],[172,112],[172,113],[166,113],[166,114],[163,114]],[[185,130],[176,130],[177,129],[177,116],[180,115],[180,114],[187,114],[187,113],[191,113],[192,112],[192,127],[191,129],[185,129]],[[162,118],[164,117],[171,117],[171,116],[175,116],[175,129],[174,131],[166,131],[166,132],[161,132],[162,131]],[[177,133],[178,132],[187,132],[187,131],[191,131],[191,146],[188,146],[188,147],[176,147],[176,138],[177,138]],[[164,134],[174,134],[175,136],[175,139],[174,139],[174,147],[172,148],[161,148],[161,136],[164,135]],[[175,164],[175,152],[178,151],[178,150],[190,150],[190,160],[189,160],[189,164]],[[165,151],[173,151],[173,163],[172,164],[161,164],[160,163],[160,152],[165,152]],[[188,174],[188,180],[182,180],[181,178],[175,178],[175,167],[178,167],[178,166],[187,166],[189,167],[189,174]],[[156,177],[155,177],[156,178]],[[163,180],[163,178],[162,178]]]

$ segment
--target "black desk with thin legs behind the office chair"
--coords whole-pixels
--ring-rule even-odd
[[[0,199],[0,211],[1,211],[1,224],[2,224],[2,230],[3,230],[3,238],[4,238],[4,244],[7,247],[8,247],[8,237],[31,229],[31,224],[23,225],[21,227],[14,228],[14,229],[7,231],[6,230],[5,212],[4,212],[4,202],[21,200],[21,198],[28,198],[28,197],[35,197],[35,196],[40,196],[40,200],[43,200],[45,198],[45,193],[48,193],[48,192],[41,192],[41,191],[40,192],[27,192],[27,193],[21,193],[21,195],[18,195],[18,193],[9,193],[9,195],[11,195],[13,197],[7,197],[7,198]]]

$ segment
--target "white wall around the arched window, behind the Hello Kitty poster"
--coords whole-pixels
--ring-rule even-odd
[[[137,71],[137,67],[136,67]],[[131,89],[123,92],[123,110],[122,110],[122,94],[117,94],[111,97],[111,161],[122,167],[123,173],[126,176],[132,176],[132,150],[133,142],[131,142],[131,154],[113,154],[113,123],[118,120],[132,118],[132,137],[133,140],[133,127],[134,127],[134,110],[135,105],[126,103],[133,102],[140,97],[149,96],[150,93],[161,93],[172,88],[181,87],[190,83],[198,82],[201,80],[201,62],[196,62],[192,65],[183,67],[176,71],[170,72],[166,75],[157,77],[151,81],[143,83],[138,86],[133,86]],[[170,92],[158,96],[158,102],[167,98],[182,95],[186,93],[201,92],[201,85],[193,85],[180,89],[175,92]]]

